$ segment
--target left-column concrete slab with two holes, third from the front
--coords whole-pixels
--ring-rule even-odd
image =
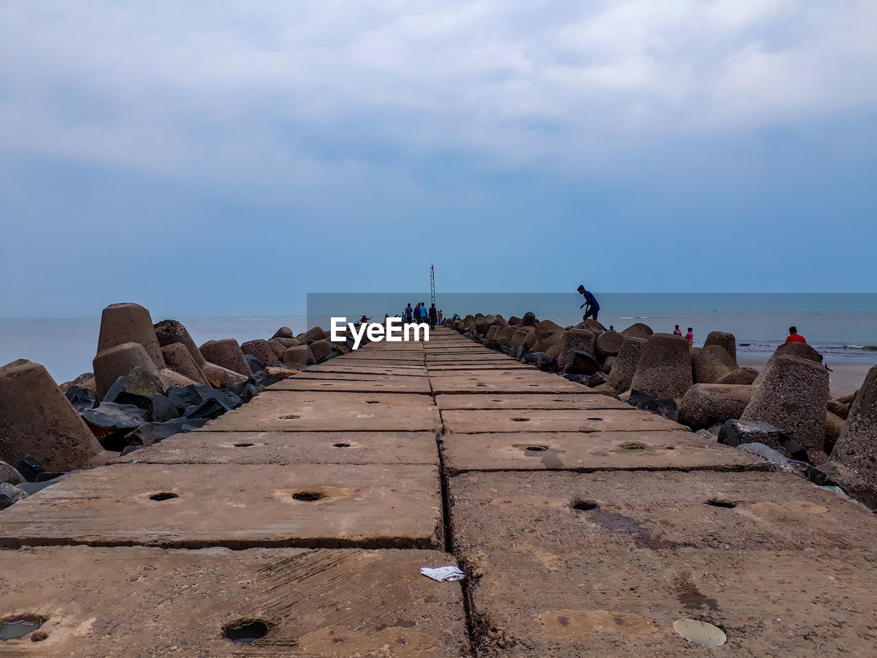
[[[189,432],[119,458],[153,464],[431,464],[431,432]]]

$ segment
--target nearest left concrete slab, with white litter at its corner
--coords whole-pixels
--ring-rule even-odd
[[[4,564],[0,619],[41,625],[0,656],[468,654],[460,583],[420,575],[455,564],[439,551],[41,547]],[[226,637],[245,623],[252,642]]]

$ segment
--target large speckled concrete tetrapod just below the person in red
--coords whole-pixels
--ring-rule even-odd
[[[740,419],[779,427],[807,450],[813,463],[825,461],[828,371],[815,361],[779,355],[768,362],[763,376]]]

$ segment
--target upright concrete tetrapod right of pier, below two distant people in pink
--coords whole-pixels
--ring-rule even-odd
[[[633,375],[631,389],[660,399],[682,397],[692,384],[688,340],[672,333],[649,336]]]

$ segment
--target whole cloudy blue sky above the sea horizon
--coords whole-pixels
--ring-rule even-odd
[[[877,291],[877,3],[0,4],[0,317]]]

